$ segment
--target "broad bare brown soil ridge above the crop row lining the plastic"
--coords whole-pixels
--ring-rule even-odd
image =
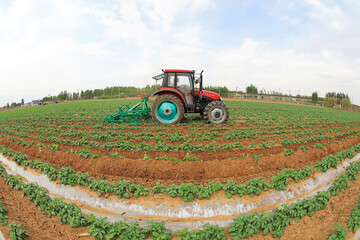
[[[267,179],[284,168],[302,169],[306,165],[313,165],[323,157],[347,149],[359,142],[360,137],[355,137],[340,144],[329,144],[324,149],[311,148],[306,152],[296,151],[295,154],[288,157],[282,152],[282,146],[270,149],[194,152],[194,155],[198,154],[202,158],[208,157],[209,160],[174,163],[169,160],[143,159],[145,153],[149,156],[163,156],[169,154],[168,152],[127,151],[127,154],[134,154],[139,157],[137,159],[119,159],[104,156],[97,159],[84,159],[75,153],[52,151],[37,145],[22,147],[7,138],[0,138],[0,144],[11,147],[15,151],[22,151],[30,159],[39,159],[42,162],[51,163],[57,168],[71,166],[76,171],[88,172],[97,179],[106,178],[109,181],[136,180],[138,184],[147,186],[153,186],[156,182],[169,185],[182,182],[201,184],[210,181],[226,182],[227,179],[242,183],[254,177]],[[310,143],[310,146],[312,144]],[[295,144],[293,148],[297,149],[299,146],[300,144]],[[121,155],[121,153],[119,154]],[[180,151],[174,154],[185,155],[186,152]],[[264,154],[264,157],[255,163],[251,156],[259,154]],[[236,159],[224,158],[224,155],[233,156]],[[245,155],[249,156],[242,158]]]

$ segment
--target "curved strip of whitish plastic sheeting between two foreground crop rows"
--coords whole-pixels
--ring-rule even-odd
[[[351,162],[357,161],[360,158],[360,154],[351,160],[343,161],[342,165],[338,169],[329,169],[326,173],[316,178],[310,178],[303,184],[294,186],[292,189],[285,191],[272,191],[267,196],[262,197],[260,202],[254,202],[252,204],[243,203],[242,200],[236,200],[232,203],[221,202],[220,199],[214,200],[208,204],[200,205],[198,202],[193,201],[189,203],[182,203],[171,207],[166,204],[159,204],[156,206],[144,206],[141,204],[127,204],[126,200],[116,201],[106,198],[97,198],[88,195],[86,192],[75,189],[70,186],[56,184],[51,182],[46,175],[35,175],[31,171],[25,170],[23,167],[16,165],[15,162],[7,160],[4,156],[0,155],[0,161],[8,166],[8,170],[14,174],[18,174],[26,178],[30,182],[36,182],[39,186],[46,188],[50,194],[56,194],[62,196],[64,199],[77,200],[82,203],[86,203],[90,206],[97,208],[104,208],[116,212],[119,216],[108,217],[110,222],[123,220],[124,217],[121,214],[126,213],[134,217],[134,220],[139,221],[140,225],[143,225],[142,220],[138,220],[136,215],[155,215],[159,217],[172,217],[172,218],[186,218],[186,217],[201,217],[205,221],[197,222],[166,222],[166,227],[172,230],[178,230],[183,228],[200,228],[206,223],[217,224],[221,227],[228,226],[232,220],[221,220],[221,221],[206,221],[206,218],[215,217],[218,215],[237,215],[248,212],[254,208],[258,208],[268,204],[281,203],[286,200],[295,198],[300,194],[310,192],[308,196],[315,195],[318,191],[326,191],[332,184],[329,182],[336,177],[341,171],[343,171]],[[327,183],[327,184],[324,184]],[[324,184],[324,185],[323,185]],[[323,186],[321,186],[323,185]],[[321,186],[320,188],[318,188]],[[316,189],[318,188],[318,189]],[[314,189],[316,189],[314,191]],[[88,210],[83,210],[85,213],[90,213]],[[105,215],[95,214],[97,216],[105,217]],[[132,220],[126,217],[129,222]]]

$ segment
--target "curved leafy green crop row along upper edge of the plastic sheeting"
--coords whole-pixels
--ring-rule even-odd
[[[57,179],[64,185],[82,185],[89,187],[93,191],[96,191],[99,196],[112,192],[118,196],[118,198],[130,198],[133,194],[134,197],[147,196],[149,192],[153,194],[166,193],[171,197],[183,198],[185,202],[198,199],[210,199],[212,194],[223,190],[228,198],[233,195],[259,195],[262,191],[268,189],[285,190],[289,184],[289,179],[293,179],[298,182],[300,179],[307,179],[314,169],[317,171],[326,172],[330,167],[337,168],[339,162],[344,159],[351,159],[354,157],[354,152],[360,152],[360,144],[338,152],[336,155],[329,155],[323,158],[320,162],[314,164],[314,169],[310,166],[302,170],[295,169],[283,169],[277,175],[274,175],[270,183],[264,181],[261,177],[249,180],[244,184],[237,184],[233,180],[228,180],[227,183],[211,182],[207,185],[182,183],[180,185],[171,184],[166,187],[163,184],[157,183],[151,189],[143,185],[137,185],[134,181],[120,180],[116,183],[109,183],[107,180],[94,180],[88,173],[75,172],[71,167],[62,167],[57,169],[49,163],[42,163],[40,161],[28,160],[26,154],[21,152],[15,153],[12,149],[6,148],[0,145],[0,150],[5,156],[13,156],[16,164],[19,166],[29,166],[34,169],[39,169],[51,181]]]

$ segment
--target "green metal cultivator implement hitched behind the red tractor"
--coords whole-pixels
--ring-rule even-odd
[[[142,118],[149,116],[150,108],[147,106],[149,96],[144,96],[135,106],[124,104],[118,107],[118,111],[107,115],[104,122],[108,123],[141,123]],[[142,108],[140,108],[142,107]]]

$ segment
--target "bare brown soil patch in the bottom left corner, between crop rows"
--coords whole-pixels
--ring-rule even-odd
[[[8,224],[21,224],[30,235],[26,239],[94,239],[92,236],[80,237],[83,234],[87,235],[85,227],[72,228],[69,224],[60,223],[58,217],[49,218],[43,215],[27,196],[22,198],[22,192],[11,189],[2,177],[0,200],[7,210]],[[8,225],[0,225],[0,230],[6,239],[11,239],[8,235]]]

